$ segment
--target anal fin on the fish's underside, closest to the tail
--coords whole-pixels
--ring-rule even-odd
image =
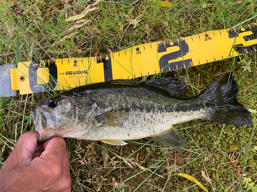
[[[186,139],[173,126],[171,130],[151,137],[169,147],[182,148],[186,144]]]

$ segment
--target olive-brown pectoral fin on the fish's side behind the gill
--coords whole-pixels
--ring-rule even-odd
[[[99,121],[100,126],[122,126],[123,122],[126,120],[126,110],[117,109],[105,112],[102,115],[96,117]]]

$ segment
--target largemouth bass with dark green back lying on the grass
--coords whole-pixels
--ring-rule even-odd
[[[173,77],[99,82],[51,96],[32,105],[31,113],[39,142],[59,136],[125,145],[124,140],[150,137],[182,148],[186,139],[175,124],[194,119],[252,124],[251,113],[236,99],[238,85],[232,72],[195,97],[176,97],[187,89]]]

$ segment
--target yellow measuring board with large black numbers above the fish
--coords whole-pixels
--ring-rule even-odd
[[[19,62],[10,69],[20,94],[67,90],[87,83],[132,79],[256,51],[257,24],[134,46],[86,58]]]

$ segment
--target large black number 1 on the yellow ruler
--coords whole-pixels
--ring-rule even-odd
[[[106,59],[108,58],[108,59]],[[103,63],[104,81],[113,80],[112,59],[108,54],[106,57],[98,56],[97,63]]]

